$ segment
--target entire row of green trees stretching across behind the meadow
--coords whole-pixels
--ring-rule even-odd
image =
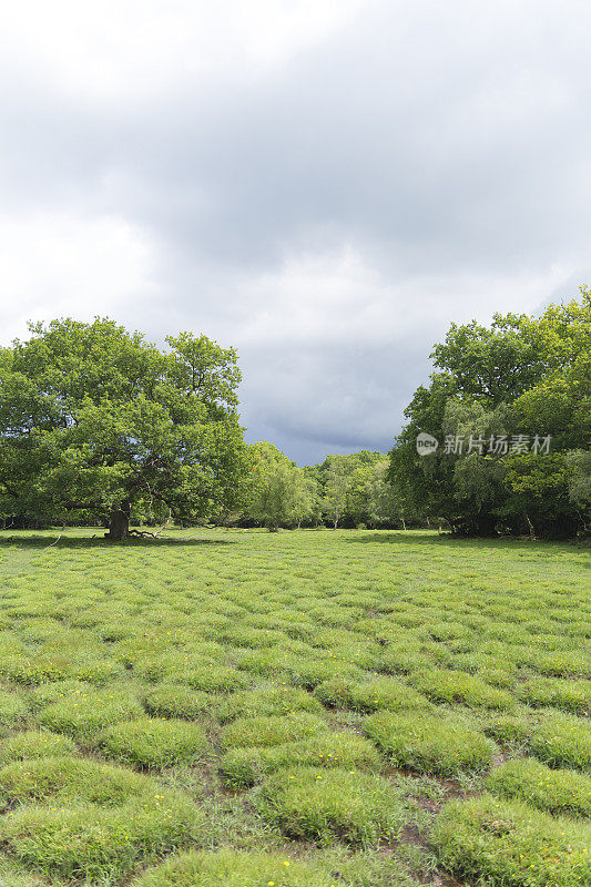
[[[539,317],[452,324],[389,457],[299,467],[240,425],[233,348],[157,348],[112,320],[32,324],[0,349],[0,520],[445,526],[567,538],[591,524],[591,293]],[[425,447],[419,439],[427,440]]]

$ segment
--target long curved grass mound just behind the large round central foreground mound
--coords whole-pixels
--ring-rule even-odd
[[[271,747],[233,748],[220,763],[220,775],[231,788],[254,785],[263,774],[297,765],[319,767],[379,766],[379,755],[368,740],[351,733],[318,733],[309,740]]]

